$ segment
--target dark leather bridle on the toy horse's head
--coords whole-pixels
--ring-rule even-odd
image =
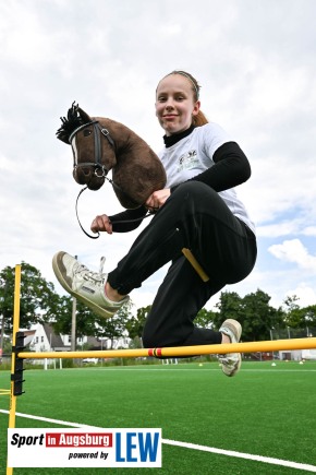
[[[87,127],[93,126],[93,133],[94,133],[94,141],[95,141],[95,162],[84,162],[78,164],[77,163],[77,153],[76,153],[76,144],[75,144],[75,135],[83,129],[86,129]],[[72,146],[72,151],[73,151],[73,167],[74,169],[78,168],[78,167],[94,167],[95,168],[95,175],[98,178],[106,178],[106,176],[108,175],[109,170],[105,167],[105,165],[102,165],[101,163],[101,138],[100,138],[100,132],[109,142],[109,144],[116,150],[116,142],[113,141],[113,139],[110,135],[110,132],[108,131],[108,129],[104,128],[100,126],[100,123],[98,122],[98,120],[92,120],[90,122],[84,123],[83,126],[77,127],[70,135],[69,138],[69,143]]]

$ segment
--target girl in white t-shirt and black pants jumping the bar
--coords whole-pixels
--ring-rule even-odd
[[[212,295],[251,273],[257,253],[254,224],[233,188],[250,178],[250,163],[220,126],[207,121],[199,108],[199,88],[184,71],[173,71],[158,83],[156,116],[166,133],[159,154],[166,188],[136,210],[102,214],[92,223],[94,233],[124,233],[136,228],[148,210],[156,211],[118,266],[109,274],[96,273],[65,252],[53,257],[63,288],[106,318],[171,261],[144,328],[145,347],[236,343],[242,333],[233,319],[226,320],[219,331],[194,325]],[[141,219],[131,222],[136,217]],[[183,248],[192,251],[208,282],[185,259]],[[219,360],[227,376],[240,369],[239,353],[219,355]]]

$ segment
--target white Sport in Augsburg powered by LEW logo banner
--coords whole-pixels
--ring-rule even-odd
[[[161,467],[161,429],[8,429],[10,467]]]

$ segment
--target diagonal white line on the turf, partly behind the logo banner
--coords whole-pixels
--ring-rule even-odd
[[[9,414],[9,411],[0,409],[0,413]],[[41,420],[45,423],[58,424],[58,425],[66,426],[66,427],[70,426],[70,427],[86,428],[86,429],[101,429],[101,427],[98,427],[98,426],[88,426],[85,424],[76,424],[76,423],[69,423],[65,420],[50,419],[48,417],[33,416],[31,414],[16,413],[16,416],[24,417],[27,419]],[[219,455],[234,456],[236,459],[252,460],[255,462],[269,463],[271,465],[285,466],[288,468],[304,470],[306,472],[316,473],[316,465],[308,465],[305,463],[291,462],[289,460],[272,459],[270,456],[262,456],[262,455],[253,455],[251,453],[235,452],[233,450],[216,449],[214,447],[199,446],[196,443],[189,443],[189,442],[180,442],[177,440],[169,440],[169,439],[162,439],[162,443],[166,443],[167,446],[174,446],[174,447],[181,447],[184,449],[199,450],[202,452],[217,453]]]

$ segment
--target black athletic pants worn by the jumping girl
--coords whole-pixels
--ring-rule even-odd
[[[189,248],[209,275],[203,282],[181,250]],[[245,278],[256,261],[256,238],[219,194],[198,181],[179,186],[108,281],[129,294],[172,261],[143,334],[145,347],[221,343],[221,334],[194,326],[197,312],[226,284]]]

